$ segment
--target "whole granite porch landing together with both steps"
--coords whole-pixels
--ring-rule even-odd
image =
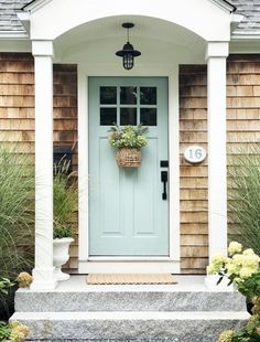
[[[204,277],[180,276],[177,285],[87,286],[73,276],[52,291],[19,290],[15,313],[34,341],[214,342],[245,323],[245,298],[209,291]]]

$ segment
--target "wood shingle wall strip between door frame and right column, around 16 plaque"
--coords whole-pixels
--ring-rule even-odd
[[[181,267],[183,274],[204,274],[208,264],[207,160],[189,164],[185,148],[207,150],[207,68],[180,66],[180,163],[181,163]]]

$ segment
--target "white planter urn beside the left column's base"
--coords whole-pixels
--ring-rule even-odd
[[[68,248],[74,242],[72,237],[53,239],[53,266],[55,267],[54,276],[57,280],[68,280],[69,275],[62,271],[62,266],[69,259]]]

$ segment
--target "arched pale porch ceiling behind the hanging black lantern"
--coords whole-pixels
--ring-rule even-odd
[[[127,41],[123,22],[134,23],[130,42],[141,50],[145,63],[186,60],[191,54],[193,61],[204,61],[206,43],[201,36],[175,23],[141,15],[109,17],[82,24],[55,40],[56,57],[65,61],[82,55],[89,56],[88,62],[112,63],[115,52]]]

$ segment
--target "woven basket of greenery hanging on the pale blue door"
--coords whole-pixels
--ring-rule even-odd
[[[121,168],[139,168],[141,165],[141,148],[147,145],[145,133],[148,127],[142,125],[124,126],[115,125],[109,130],[109,142],[118,148],[116,160]]]

